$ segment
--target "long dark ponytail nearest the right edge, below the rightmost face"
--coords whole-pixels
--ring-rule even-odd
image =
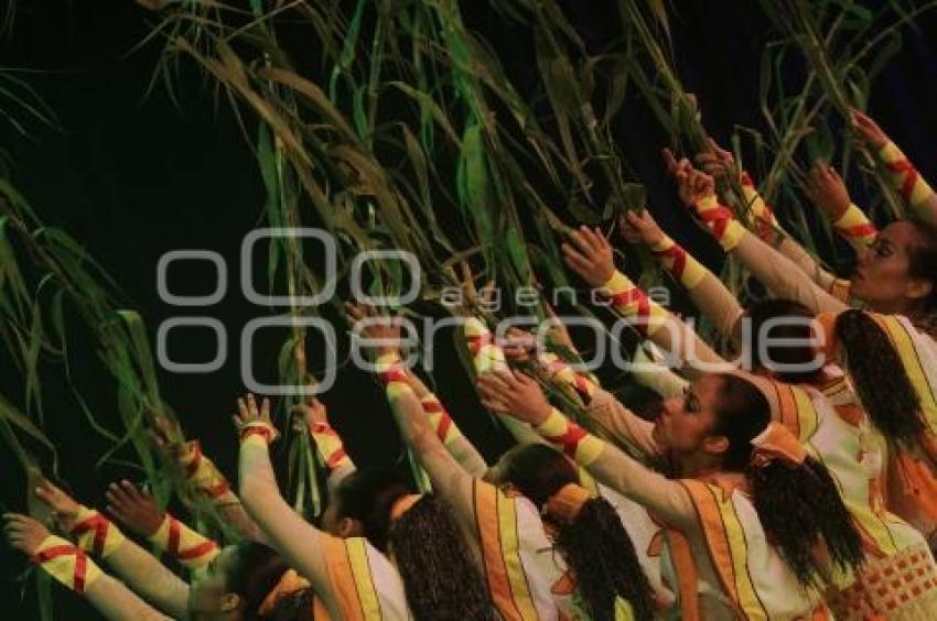
[[[920,399],[891,338],[861,310],[837,317],[836,338],[862,407],[888,442],[913,444],[927,428]]]

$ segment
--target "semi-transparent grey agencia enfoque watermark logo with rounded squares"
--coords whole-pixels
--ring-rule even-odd
[[[257,243],[265,239],[297,239],[312,240],[321,247],[321,261],[323,265],[324,281],[315,295],[272,295],[258,292],[255,287],[254,254]],[[306,307],[314,308],[330,302],[335,296],[338,265],[337,249],[334,238],[322,229],[316,228],[263,228],[248,233],[240,247],[239,257],[239,283],[240,292],[245,298],[262,308],[270,307]],[[179,295],[171,291],[169,284],[169,271],[173,264],[182,262],[202,261],[212,263],[215,273],[215,284],[211,293],[203,295]],[[371,295],[365,291],[363,275],[369,262],[399,261],[407,271],[409,287],[398,295]],[[184,308],[185,315],[174,316],[160,324],[157,330],[157,357],[160,366],[174,373],[211,373],[220,369],[229,357],[228,333],[225,325],[208,314],[208,309],[219,303],[227,294],[228,288],[228,264],[224,257],[211,250],[173,250],[165,253],[157,265],[157,291],[160,298],[168,305]],[[420,295],[420,283],[422,271],[417,257],[402,250],[369,250],[355,255],[348,269],[349,291],[353,302],[370,306],[406,306],[414,302]],[[482,310],[496,315],[503,309],[504,292],[495,288],[488,298],[476,301],[482,305]],[[580,372],[595,371],[600,367],[611,363],[617,369],[635,373],[659,372],[661,367],[680,369],[692,367],[701,372],[721,372],[732,369],[756,370],[767,367],[776,372],[811,372],[821,368],[826,360],[822,357],[822,334],[812,329],[810,318],[799,316],[776,317],[758,326],[757,333],[747,317],[742,317],[739,326],[741,335],[741,347],[737,356],[732,360],[722,360],[713,355],[712,350],[703,344],[694,330],[692,319],[682,320],[672,315],[666,317],[621,317],[611,325],[604,325],[594,317],[580,315],[548,317],[540,320],[532,314],[542,296],[538,288],[518,287],[513,292],[515,307],[530,307],[531,314],[506,317],[491,326],[496,342],[514,342],[516,339],[511,334],[514,329],[520,329],[530,338],[524,342],[530,349],[530,356],[537,357],[548,351],[548,335],[558,326],[572,327],[578,333],[589,333],[590,352],[589,358],[581,363],[573,364],[574,370]],[[553,306],[561,303],[577,305],[582,292],[572,287],[559,287],[551,292],[549,302]],[[670,294],[666,287],[656,287],[648,291],[648,296],[654,303],[667,307],[670,303]],[[464,307],[465,292],[459,286],[444,287],[440,296],[441,304],[452,308]],[[607,306],[610,302],[591,291],[588,298],[582,302],[593,306]],[[201,312],[196,312],[200,309]],[[413,367],[420,361],[428,371],[432,371],[435,364],[433,342],[437,333],[441,329],[454,327],[461,329],[465,322],[470,320],[462,316],[446,316],[441,318],[423,317],[413,320],[408,317],[395,317],[392,320],[400,326],[400,339],[395,344],[386,344],[380,339],[369,338],[367,328],[377,322],[387,322],[386,318],[366,317],[357,322],[351,329],[352,350],[351,362],[357,368],[374,371],[374,364],[368,356],[369,351],[386,345],[397,345],[407,352],[403,366]],[[215,336],[215,353],[211,360],[198,362],[180,362],[172,360],[169,356],[169,336],[177,328],[207,328]],[[277,327],[302,327],[308,334],[317,333],[324,344],[324,363],[316,378],[315,385],[288,385],[268,384],[257,378],[255,369],[255,336],[259,330]],[[343,326],[344,327],[344,326]],[[649,361],[647,359],[629,359],[624,356],[622,348],[608,347],[608,341],[620,342],[628,338],[634,331],[643,335],[654,335],[657,344],[670,344],[670,347],[657,348],[659,356]],[[780,331],[786,335],[799,335],[797,337],[778,337]],[[238,347],[238,359],[241,380],[251,392],[276,395],[314,395],[327,391],[336,380],[337,373],[337,334],[336,327],[321,317],[295,316],[282,314],[262,316],[249,320],[240,333]],[[790,359],[789,356],[778,355],[784,350],[797,349],[801,356],[795,359],[804,362],[783,362]],[[803,353],[818,352],[816,356],[805,357]],[[777,358],[777,360],[774,360]]]

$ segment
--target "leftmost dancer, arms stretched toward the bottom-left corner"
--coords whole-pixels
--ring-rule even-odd
[[[193,573],[190,586],[127,540],[107,518],[79,505],[58,488],[43,482],[36,495],[53,510],[60,526],[76,537],[77,545],[50,535],[31,518],[8,514],[11,544],[60,582],[87,597],[107,619],[313,619],[309,584],[262,544],[247,542],[223,548],[207,566]],[[88,558],[90,553],[105,558],[121,580],[160,610],[101,571]]]

